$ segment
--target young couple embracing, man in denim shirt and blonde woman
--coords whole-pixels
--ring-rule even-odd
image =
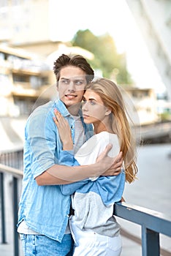
[[[91,82],[94,71],[82,56],[63,54],[54,72],[59,99],[34,110],[25,130],[18,212],[24,255],[121,255],[113,204],[137,173],[121,92],[110,80]]]

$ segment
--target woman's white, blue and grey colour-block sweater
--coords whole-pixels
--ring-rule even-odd
[[[80,165],[91,165],[104,151],[107,144],[113,148],[108,155],[118,156],[120,146],[118,136],[109,132],[94,135],[75,154]],[[118,176],[100,176],[62,186],[64,195],[72,195],[72,208],[75,216],[71,217],[80,230],[93,230],[104,236],[117,236],[120,226],[113,217],[113,204],[121,200],[125,184],[125,174]],[[72,221],[72,223],[73,223]]]

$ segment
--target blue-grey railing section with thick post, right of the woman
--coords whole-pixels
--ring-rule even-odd
[[[159,234],[171,237],[171,217],[148,208],[115,203],[113,214],[141,225],[142,256],[159,256]]]

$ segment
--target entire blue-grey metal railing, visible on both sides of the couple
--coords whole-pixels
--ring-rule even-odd
[[[14,256],[19,256],[18,233],[18,179],[22,178],[23,171],[18,168],[0,164],[1,182],[1,243],[6,243],[5,212],[4,212],[4,173],[10,173],[13,177],[13,223],[14,223]],[[115,203],[114,215],[129,222],[140,225],[142,228],[141,244],[142,256],[159,256],[159,234],[171,237],[171,217],[152,211],[148,208],[133,206],[128,203]]]

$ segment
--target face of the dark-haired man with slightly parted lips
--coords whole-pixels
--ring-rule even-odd
[[[80,67],[69,66],[61,69],[58,94],[66,108],[82,101],[86,83],[86,72]]]

